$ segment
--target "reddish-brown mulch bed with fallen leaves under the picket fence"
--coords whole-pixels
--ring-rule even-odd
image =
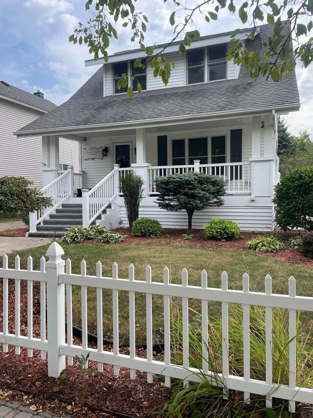
[[[9,300],[9,332],[14,333],[14,286],[10,287]],[[39,286],[34,283],[34,300],[39,295]],[[2,306],[0,305],[0,329],[2,329]],[[34,304],[34,337],[40,338],[40,307]],[[27,335],[27,283],[21,282],[21,335]],[[74,344],[81,345],[79,339]],[[89,347],[96,348],[95,344]],[[112,351],[112,346],[104,346],[104,350]],[[121,353],[128,354],[128,349]],[[144,350],[137,350],[138,357],[146,357]],[[160,358],[157,355],[155,358]],[[2,352],[0,344],[0,399],[19,399],[24,404],[36,405],[37,409],[52,409],[75,417],[96,417],[96,411],[109,414],[126,414],[132,417],[150,417],[151,411],[160,410],[162,402],[168,394],[162,391],[164,380],[156,376],[154,383],[147,383],[147,374],[137,371],[136,379],[130,379],[129,369],[120,368],[118,377],[113,375],[112,366],[104,365],[104,371],[97,371],[97,363],[89,362],[94,373],[85,380],[85,390],[78,363],[67,366],[58,378],[47,375],[47,361],[40,359],[40,351],[34,350],[33,357],[27,357],[27,349],[21,349],[21,355],[15,355],[15,348],[9,346],[9,352]],[[8,393],[4,395],[4,391]],[[82,408],[81,404],[90,407]],[[121,415],[109,414],[107,417]]]

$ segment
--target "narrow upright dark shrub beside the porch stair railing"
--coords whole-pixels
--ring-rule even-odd
[[[120,190],[124,195],[129,227],[132,229],[133,222],[139,218],[139,204],[143,194],[143,179],[133,172],[126,172],[121,176]]]

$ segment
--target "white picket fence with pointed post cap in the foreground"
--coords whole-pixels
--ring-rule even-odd
[[[296,314],[297,311],[313,311],[313,297],[297,296],[295,291],[295,279],[289,279],[289,295],[272,294],[271,277],[265,278],[265,293],[249,291],[249,276],[243,276],[243,290],[231,290],[227,285],[227,274],[222,273],[221,289],[207,286],[207,273],[201,272],[201,287],[188,285],[188,271],[182,270],[181,285],[170,283],[170,272],[167,267],[163,270],[163,283],[152,281],[152,270],[146,268],[146,280],[135,280],[134,266],[129,266],[128,279],[118,277],[118,266],[112,265],[112,277],[102,276],[102,265],[96,264],[96,276],[87,275],[86,262],[81,262],[81,273],[72,274],[71,261],[62,259],[64,251],[54,242],[47,250],[46,256],[41,258],[40,271],[34,271],[32,258],[28,257],[27,270],[20,269],[20,257],[15,259],[15,268],[8,268],[8,258],[3,257],[3,266],[0,269],[0,278],[3,280],[3,327],[0,332],[0,343],[3,351],[8,350],[8,345],[15,346],[16,354],[20,354],[20,347],[27,347],[28,356],[33,355],[33,349],[41,350],[41,358],[45,359],[47,352],[48,375],[58,377],[67,364],[73,364],[76,355],[86,356],[89,360],[98,363],[98,370],[103,371],[103,364],[113,365],[114,374],[119,374],[119,367],[130,369],[130,377],[135,379],[136,370],[147,373],[148,382],[153,381],[153,375],[165,377],[165,386],[170,387],[171,378],[183,379],[185,385],[190,381],[199,381],[199,370],[189,365],[189,326],[188,326],[188,299],[201,301],[201,333],[202,333],[202,370],[213,384],[221,381],[231,390],[244,393],[246,400],[250,393],[266,397],[266,405],[271,406],[273,397],[289,401],[291,411],[295,410],[295,402],[313,404],[313,390],[296,386]],[[9,334],[9,280],[15,281],[15,334]],[[21,280],[27,281],[27,336],[21,335],[20,296]],[[40,282],[40,310],[41,310],[41,334],[40,338],[33,337],[33,283]],[[73,342],[72,335],[72,286],[81,287],[82,310],[82,345]],[[97,348],[88,346],[88,321],[87,321],[87,287],[95,288],[97,295]],[[103,349],[103,311],[102,290],[112,290],[113,308],[113,352]],[[65,292],[66,291],[66,292]],[[129,294],[129,336],[130,354],[119,352],[119,292],[126,291]],[[146,316],[147,351],[146,358],[136,357],[135,352],[135,294],[146,295],[146,310],[141,315]],[[164,308],[164,361],[156,361],[153,358],[153,317],[152,295],[163,296]],[[171,363],[171,316],[170,298],[181,298],[182,304],[182,364]],[[223,339],[223,366],[222,373],[218,376],[208,369],[208,302],[218,301],[222,304],[222,339]],[[244,375],[237,376],[229,373],[228,350],[228,304],[235,303],[243,306],[244,328]],[[67,339],[65,332],[65,308],[67,306]],[[265,307],[266,317],[266,380],[250,378],[250,318],[251,306]],[[272,358],[272,310],[283,308],[289,310],[289,385],[277,385],[273,383],[273,358]],[[47,321],[45,318],[47,310]],[[136,314],[138,314],[136,312]],[[47,335],[46,335],[47,332]],[[46,338],[47,337],[47,338]],[[218,378],[218,380],[216,380]]]

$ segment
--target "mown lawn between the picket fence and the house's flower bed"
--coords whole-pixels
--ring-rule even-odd
[[[65,256],[72,261],[72,272],[80,272],[80,262],[87,262],[88,274],[95,274],[95,265],[98,260],[103,267],[103,275],[111,276],[112,263],[115,261],[119,267],[119,277],[128,277],[130,263],[135,267],[135,278],[144,280],[145,268],[149,264],[152,268],[153,281],[162,281],[162,270],[165,266],[170,269],[171,282],[180,283],[180,272],[185,267],[189,273],[189,284],[200,286],[201,270],[208,273],[208,286],[220,287],[221,273],[228,273],[228,286],[231,289],[242,289],[242,275],[250,275],[250,290],[264,291],[264,278],[269,273],[273,279],[273,293],[286,294],[288,292],[288,278],[294,275],[297,283],[298,295],[313,294],[313,269],[306,266],[291,265],[283,261],[256,254],[250,251],[227,249],[204,249],[184,244],[167,244],[151,240],[140,244],[62,244]],[[34,259],[34,269],[39,269],[40,257],[45,255],[47,246],[19,251],[21,268],[26,268],[26,259],[31,255]],[[14,266],[14,256],[9,256],[10,267]],[[136,340],[145,341],[145,297],[136,295]],[[95,290],[89,289],[88,322],[89,331],[96,331],[96,304]],[[112,291],[103,291],[104,335],[112,336]],[[154,296],[153,301],[154,334],[159,341],[162,337],[162,299]],[[190,300],[190,305],[199,308],[199,302]],[[120,336],[122,341],[128,340],[128,294],[120,292]],[[174,310],[178,309],[179,300],[173,300]],[[219,305],[210,303],[210,312],[217,313]],[[73,318],[76,325],[80,325],[80,289],[73,289]],[[311,317],[310,317],[311,319]]]

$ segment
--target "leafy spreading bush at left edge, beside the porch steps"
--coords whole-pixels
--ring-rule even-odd
[[[51,198],[30,186],[32,181],[24,177],[0,178],[0,213],[19,212],[26,214],[51,205]]]

